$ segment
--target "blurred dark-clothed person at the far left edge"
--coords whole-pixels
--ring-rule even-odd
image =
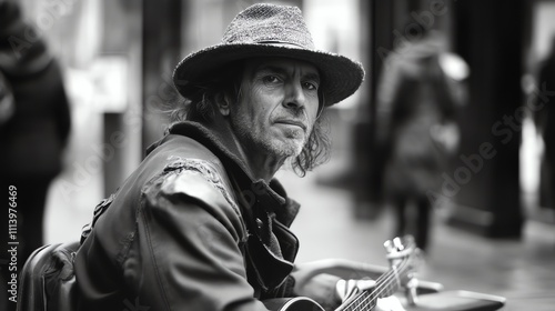
[[[12,0],[0,0],[0,184],[6,202],[0,218],[0,309],[16,310],[6,298],[6,284],[43,244],[47,193],[62,170],[71,121],[60,67]],[[17,193],[9,194],[11,190]],[[8,198],[13,198],[10,208],[17,211],[17,219],[11,218],[17,220],[11,227],[19,242],[17,271],[8,264],[12,261],[8,242],[16,241],[9,234]]]

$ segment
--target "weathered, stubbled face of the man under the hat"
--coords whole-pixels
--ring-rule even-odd
[[[241,84],[230,119],[245,151],[299,156],[317,116],[317,69],[287,58],[255,59],[245,62]]]

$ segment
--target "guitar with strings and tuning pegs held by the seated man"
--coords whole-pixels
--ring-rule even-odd
[[[351,297],[335,311],[370,311],[374,309],[377,299],[390,297],[401,288],[411,289],[414,268],[421,258],[414,239],[406,235],[403,239],[387,240],[384,248],[390,261],[387,272],[377,278],[373,288]],[[273,311],[324,311],[317,302],[304,297],[271,299],[264,301],[264,305]]]

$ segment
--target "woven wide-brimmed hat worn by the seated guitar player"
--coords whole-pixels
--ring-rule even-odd
[[[360,62],[314,48],[299,8],[258,3],[233,19],[221,43],[185,57],[173,72],[173,83],[190,98],[222,66],[255,57],[285,57],[314,64],[326,106],[353,94],[364,79]]]

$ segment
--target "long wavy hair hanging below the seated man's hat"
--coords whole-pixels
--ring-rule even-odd
[[[189,98],[178,100],[175,106],[169,111],[171,123],[181,121],[210,123],[214,119],[214,108],[219,100],[228,97],[239,101],[241,97],[243,64],[242,61],[231,63],[220,69],[218,73],[208,74],[211,77],[210,79],[201,79],[202,82],[196,83],[196,92]],[[319,91],[319,101],[321,107],[325,107],[322,91]],[[304,177],[307,171],[325,163],[330,159],[331,141],[329,129],[324,108],[316,119],[303,150],[297,157],[291,159],[291,167],[300,177]]]

